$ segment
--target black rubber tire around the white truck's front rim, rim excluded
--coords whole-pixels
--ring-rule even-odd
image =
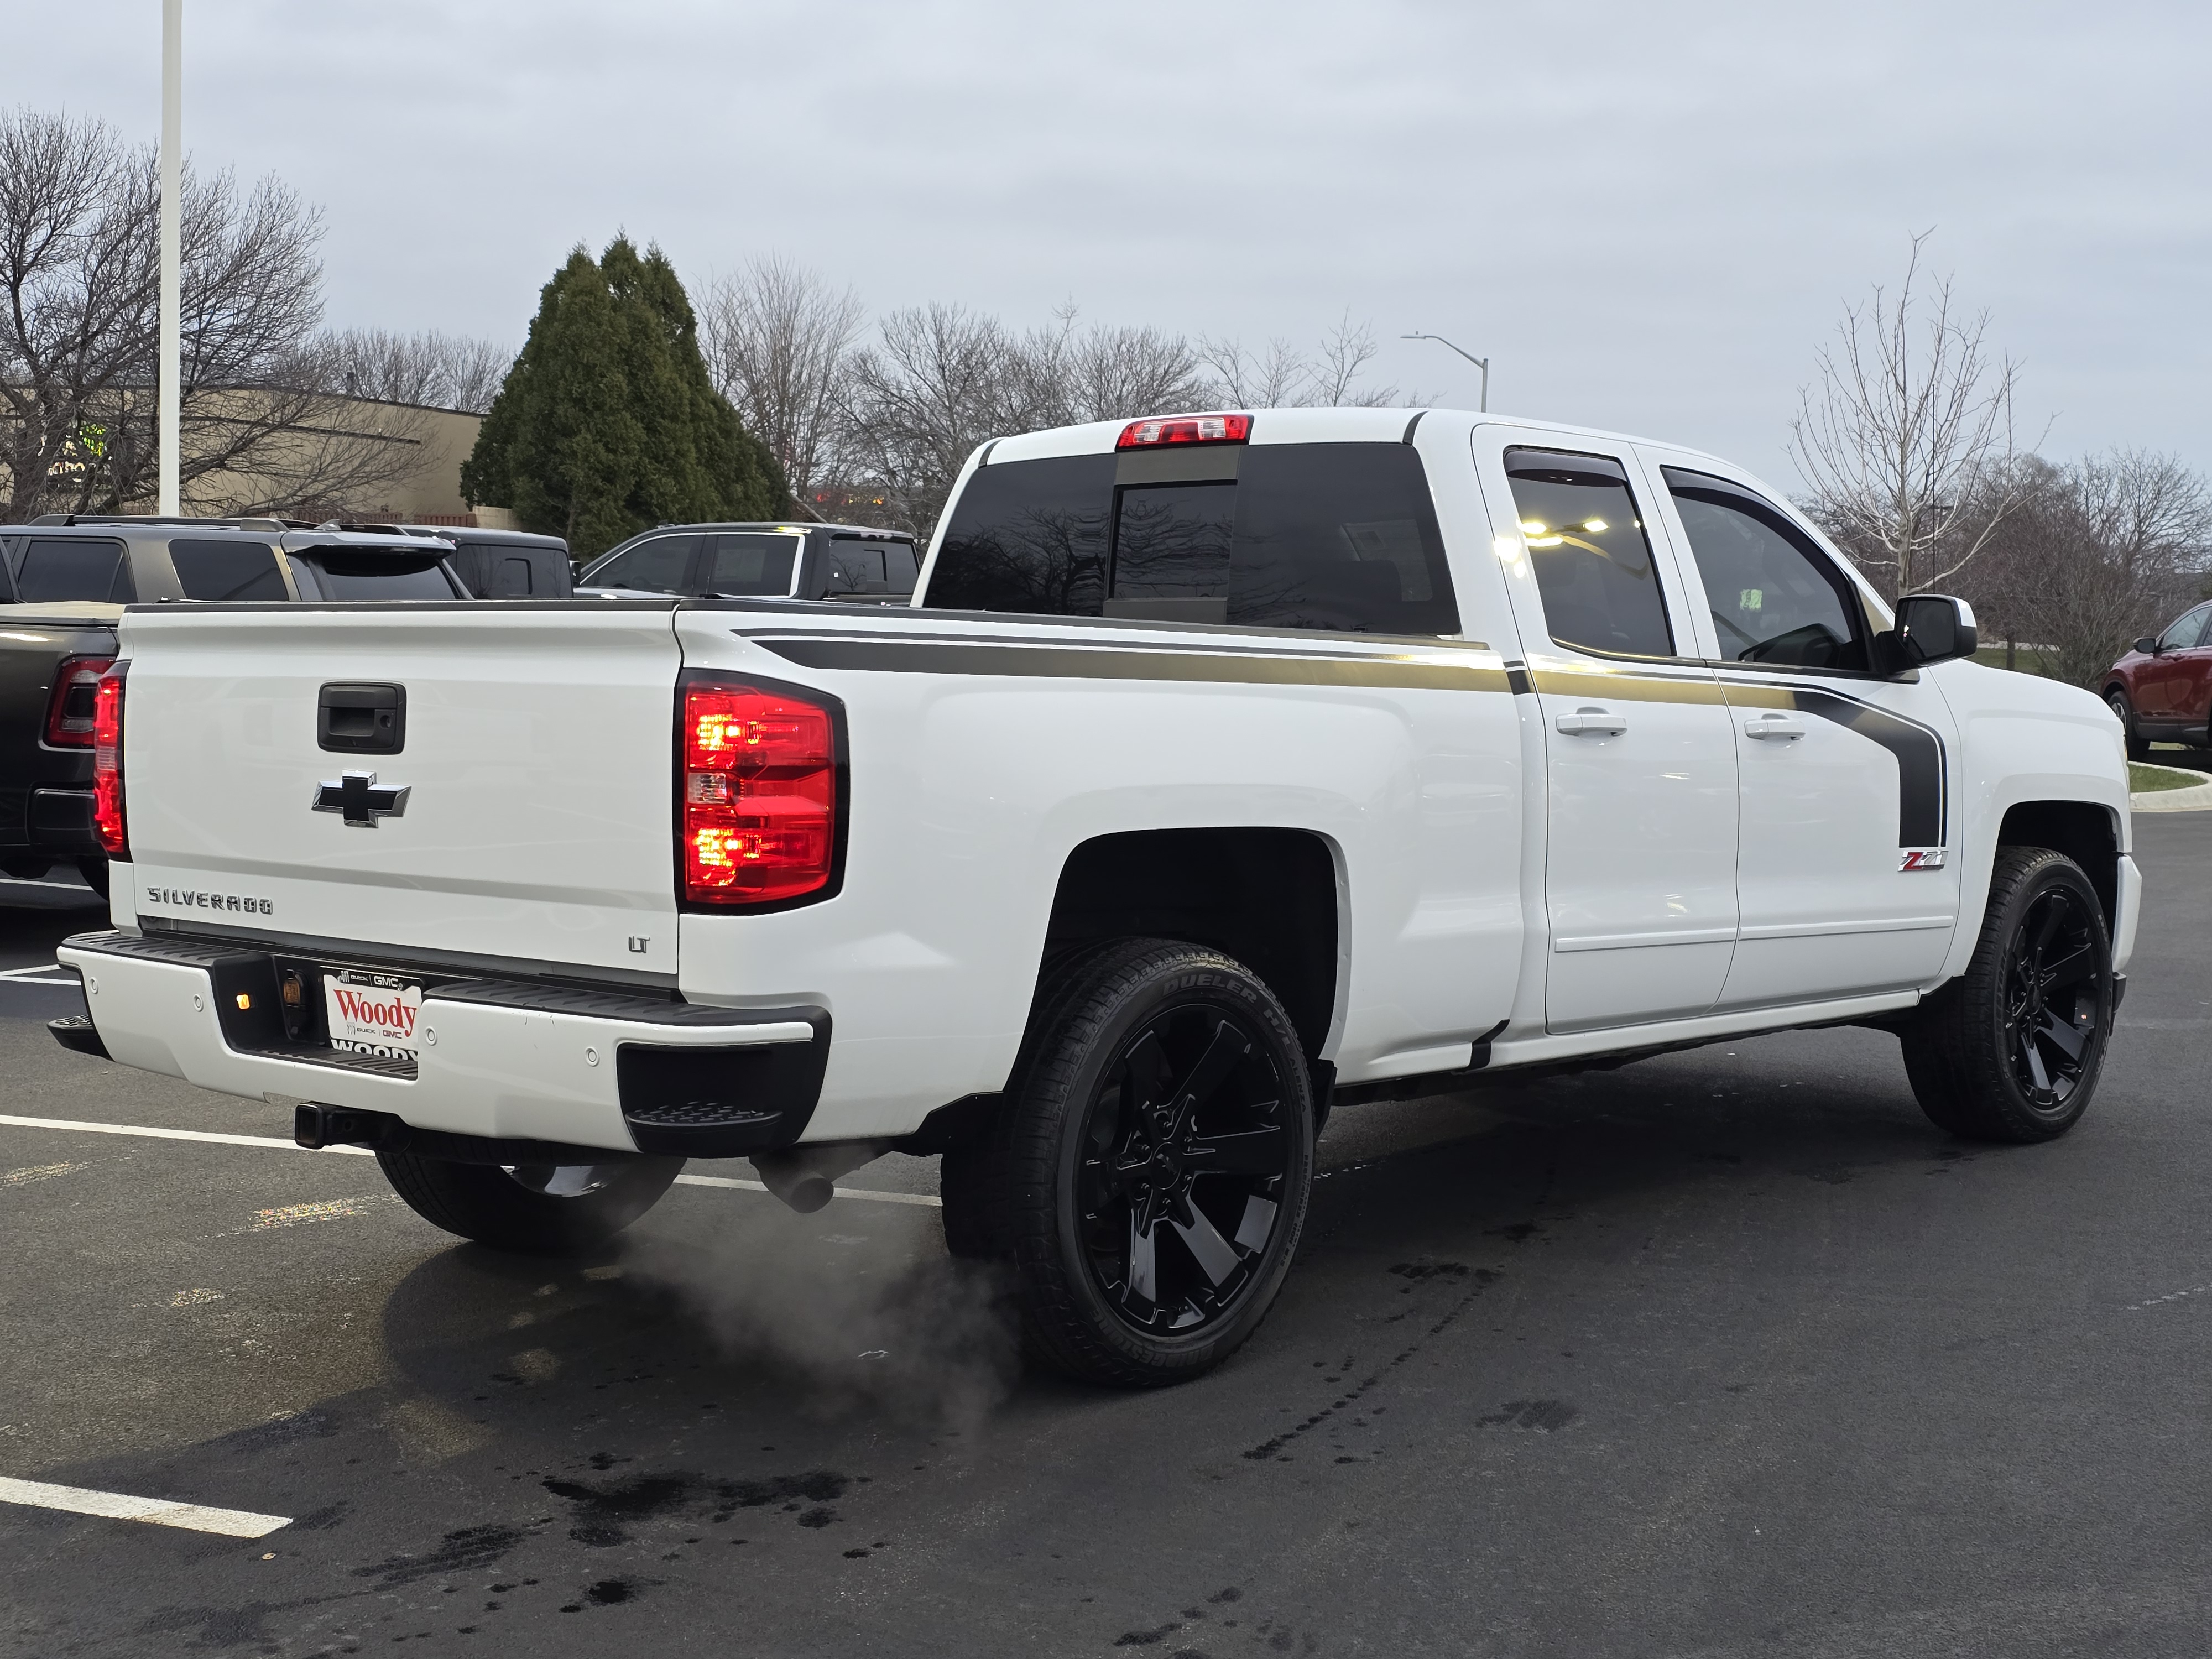
[[[2020,931],[2037,907],[2064,905],[2077,916],[2090,951],[2090,1029],[2079,1077],[2064,1102],[2037,1104],[2015,1066],[2015,1026],[2006,1024],[2008,975]],[[1966,971],[1920,1004],[1905,1026],[1905,1075],[1920,1110],[1940,1128],[1975,1141],[2048,1141],[2088,1110],[2104,1073],[2112,1029],[2112,945],[2104,907],[2081,867],[2048,847],[1997,847],[1989,909]]]

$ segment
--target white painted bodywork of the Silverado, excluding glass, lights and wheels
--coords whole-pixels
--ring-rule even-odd
[[[1274,411],[1254,442],[1400,442],[1407,420],[1380,409]],[[1108,422],[1006,438],[991,465],[1104,453],[1117,431]],[[1506,672],[1601,664],[1548,644],[1500,495],[1504,445],[1621,456],[1641,480],[1668,602],[1692,619],[1694,566],[1679,529],[1652,511],[1657,460],[1756,480],[1688,451],[1652,449],[1646,465],[1628,438],[1451,411],[1427,411],[1411,442],[1462,615],[1462,637],[1433,646],[796,606],[131,611],[122,639],[133,664],[126,799],[137,863],[117,865],[115,922],[204,927],[217,922],[204,900],[186,907],[164,894],[252,896],[272,907],[254,927],[349,942],[367,960],[378,949],[500,958],[577,978],[648,975],[699,1004],[818,1004],[834,1035],[807,1139],[832,1141],[909,1133],[936,1106],[1004,1086],[1060,874],[1095,836],[1316,836],[1336,869],[1338,909],[1323,1057],[1347,1084],[1460,1066],[1500,1026],[1493,1064],[1535,1064],[1907,1009],[1962,971],[2011,805],[2093,803],[2117,814],[2126,849],[2112,717],[2086,692],[1973,664],[1940,666],[1918,686],[1856,688],[1885,706],[1907,699],[1898,710],[1942,734],[1942,876],[1876,869],[1880,838],[1898,834],[1880,748],[1840,728],[1836,743],[1794,754],[1739,739],[1741,710],[1714,701],[1728,668],[1710,666],[1710,639],[1686,639],[1670,668],[1699,679],[1708,701],[1628,703],[1630,741],[1559,734],[1555,714],[1588,699],[1513,695]],[[925,591],[927,577],[925,566]],[[779,650],[825,635],[1035,650],[1053,666],[894,672],[803,666]],[[1433,661],[1480,670],[1484,688],[1084,672],[1082,653],[1130,650]],[[849,818],[832,898],[757,916],[679,911],[681,668],[843,701]],[[405,684],[403,754],[319,750],[325,681]],[[312,812],[314,785],[343,770],[409,785],[407,812],[376,830]],[[1891,902],[1887,883],[1905,896]],[[2121,962],[2139,887],[2124,858]],[[246,916],[226,907],[221,925]],[[199,969],[93,951],[64,960],[100,980],[93,1013],[124,1064],[239,1095],[582,1146],[628,1146],[611,1064],[619,1042],[803,1035],[431,998],[425,1026],[438,1042],[407,1082],[232,1053],[215,1013],[192,1006],[208,989]]]

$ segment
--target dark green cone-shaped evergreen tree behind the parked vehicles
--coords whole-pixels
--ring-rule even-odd
[[[774,518],[768,447],[714,392],[699,325],[659,248],[568,254],[460,469],[471,502],[564,535],[577,557],[653,524]]]

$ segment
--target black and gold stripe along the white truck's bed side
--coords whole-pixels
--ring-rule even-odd
[[[949,644],[936,639],[757,639],[803,668],[887,675],[1013,675],[1020,679],[1164,679],[1248,686],[1394,686],[1506,690],[1500,668],[1394,657],[1259,657],[1183,650]]]

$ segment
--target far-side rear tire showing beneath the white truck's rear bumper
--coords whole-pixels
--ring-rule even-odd
[[[453,1164],[416,1152],[378,1152],[392,1190],[434,1228],[493,1250],[575,1254],[606,1243],[646,1210],[684,1168],[679,1157],[606,1164]]]

